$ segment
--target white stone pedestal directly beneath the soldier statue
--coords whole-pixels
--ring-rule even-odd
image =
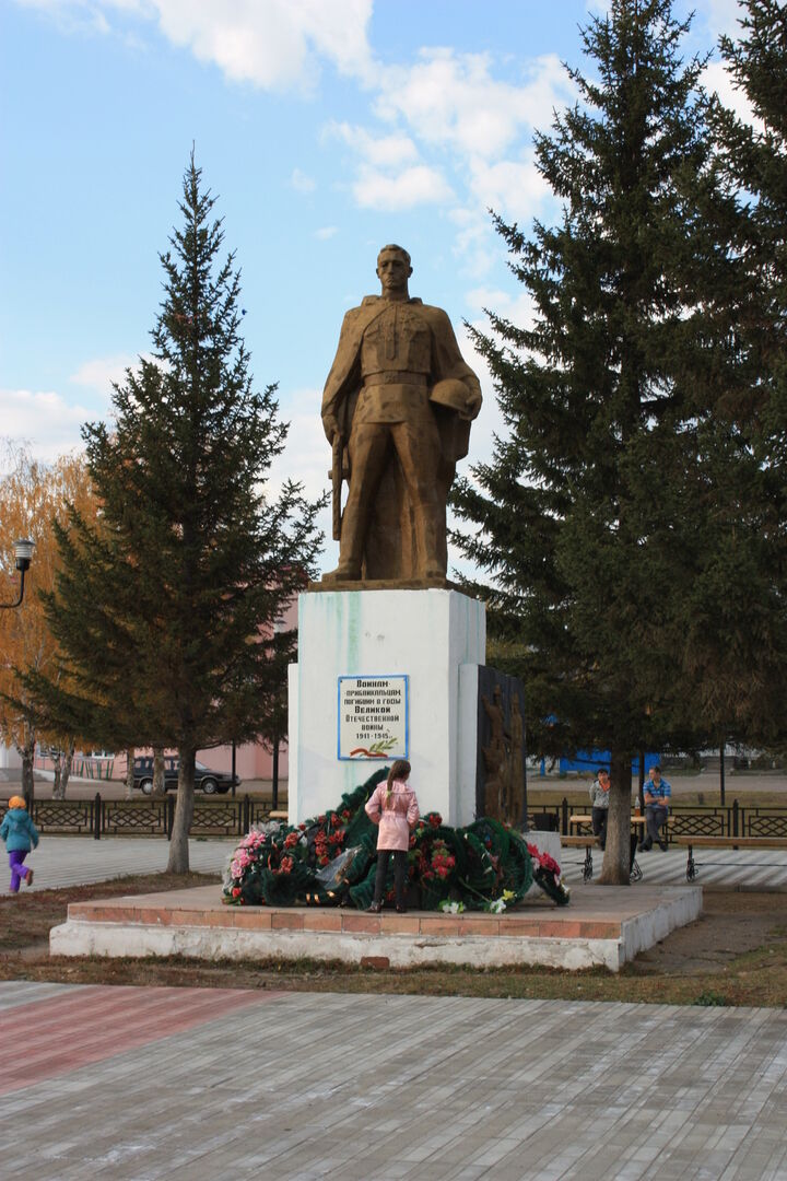
[[[408,678],[407,758],[421,811],[439,811],[451,826],[471,823],[478,718],[473,670],[485,657],[484,603],[458,590],[300,595],[299,663],[289,670],[290,824],[335,808],[343,792],[389,765],[389,759],[339,758],[339,678],[398,674]]]

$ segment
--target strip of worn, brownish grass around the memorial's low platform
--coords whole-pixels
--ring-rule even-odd
[[[706,890],[697,922],[673,932],[618,974],[602,968],[465,967],[375,971],[299,960],[205,964],[170,959],[72,959],[48,955],[50,928],[68,902],[205,886],[209,874],[147,874],[0,899],[0,979],[70,984],[398,992],[424,996],[529,997],[677,1005],[787,1005],[785,895]]]

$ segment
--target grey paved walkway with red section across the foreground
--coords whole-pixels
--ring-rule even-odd
[[[0,1037],[9,1181],[787,1177],[780,1010],[8,983]]]

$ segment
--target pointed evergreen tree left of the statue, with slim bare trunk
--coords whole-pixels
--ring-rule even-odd
[[[253,386],[240,273],[218,257],[212,207],[192,154],[182,224],[160,255],[153,359],[116,386],[112,426],[84,429],[101,517],[72,513],[47,605],[76,686],[64,709],[79,712],[98,683],[94,732],[178,749],[175,873],[189,868],[197,750],[286,729],[295,637],[275,625],[320,544],[320,504],[291,481],[276,498],[265,488],[287,425],[275,386]]]

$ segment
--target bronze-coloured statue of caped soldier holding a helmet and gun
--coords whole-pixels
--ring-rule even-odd
[[[407,250],[383,246],[376,273],[382,292],[345,317],[322,398],[340,541],[322,581],[445,586],[446,501],[481,389],[446,313],[411,299]]]

